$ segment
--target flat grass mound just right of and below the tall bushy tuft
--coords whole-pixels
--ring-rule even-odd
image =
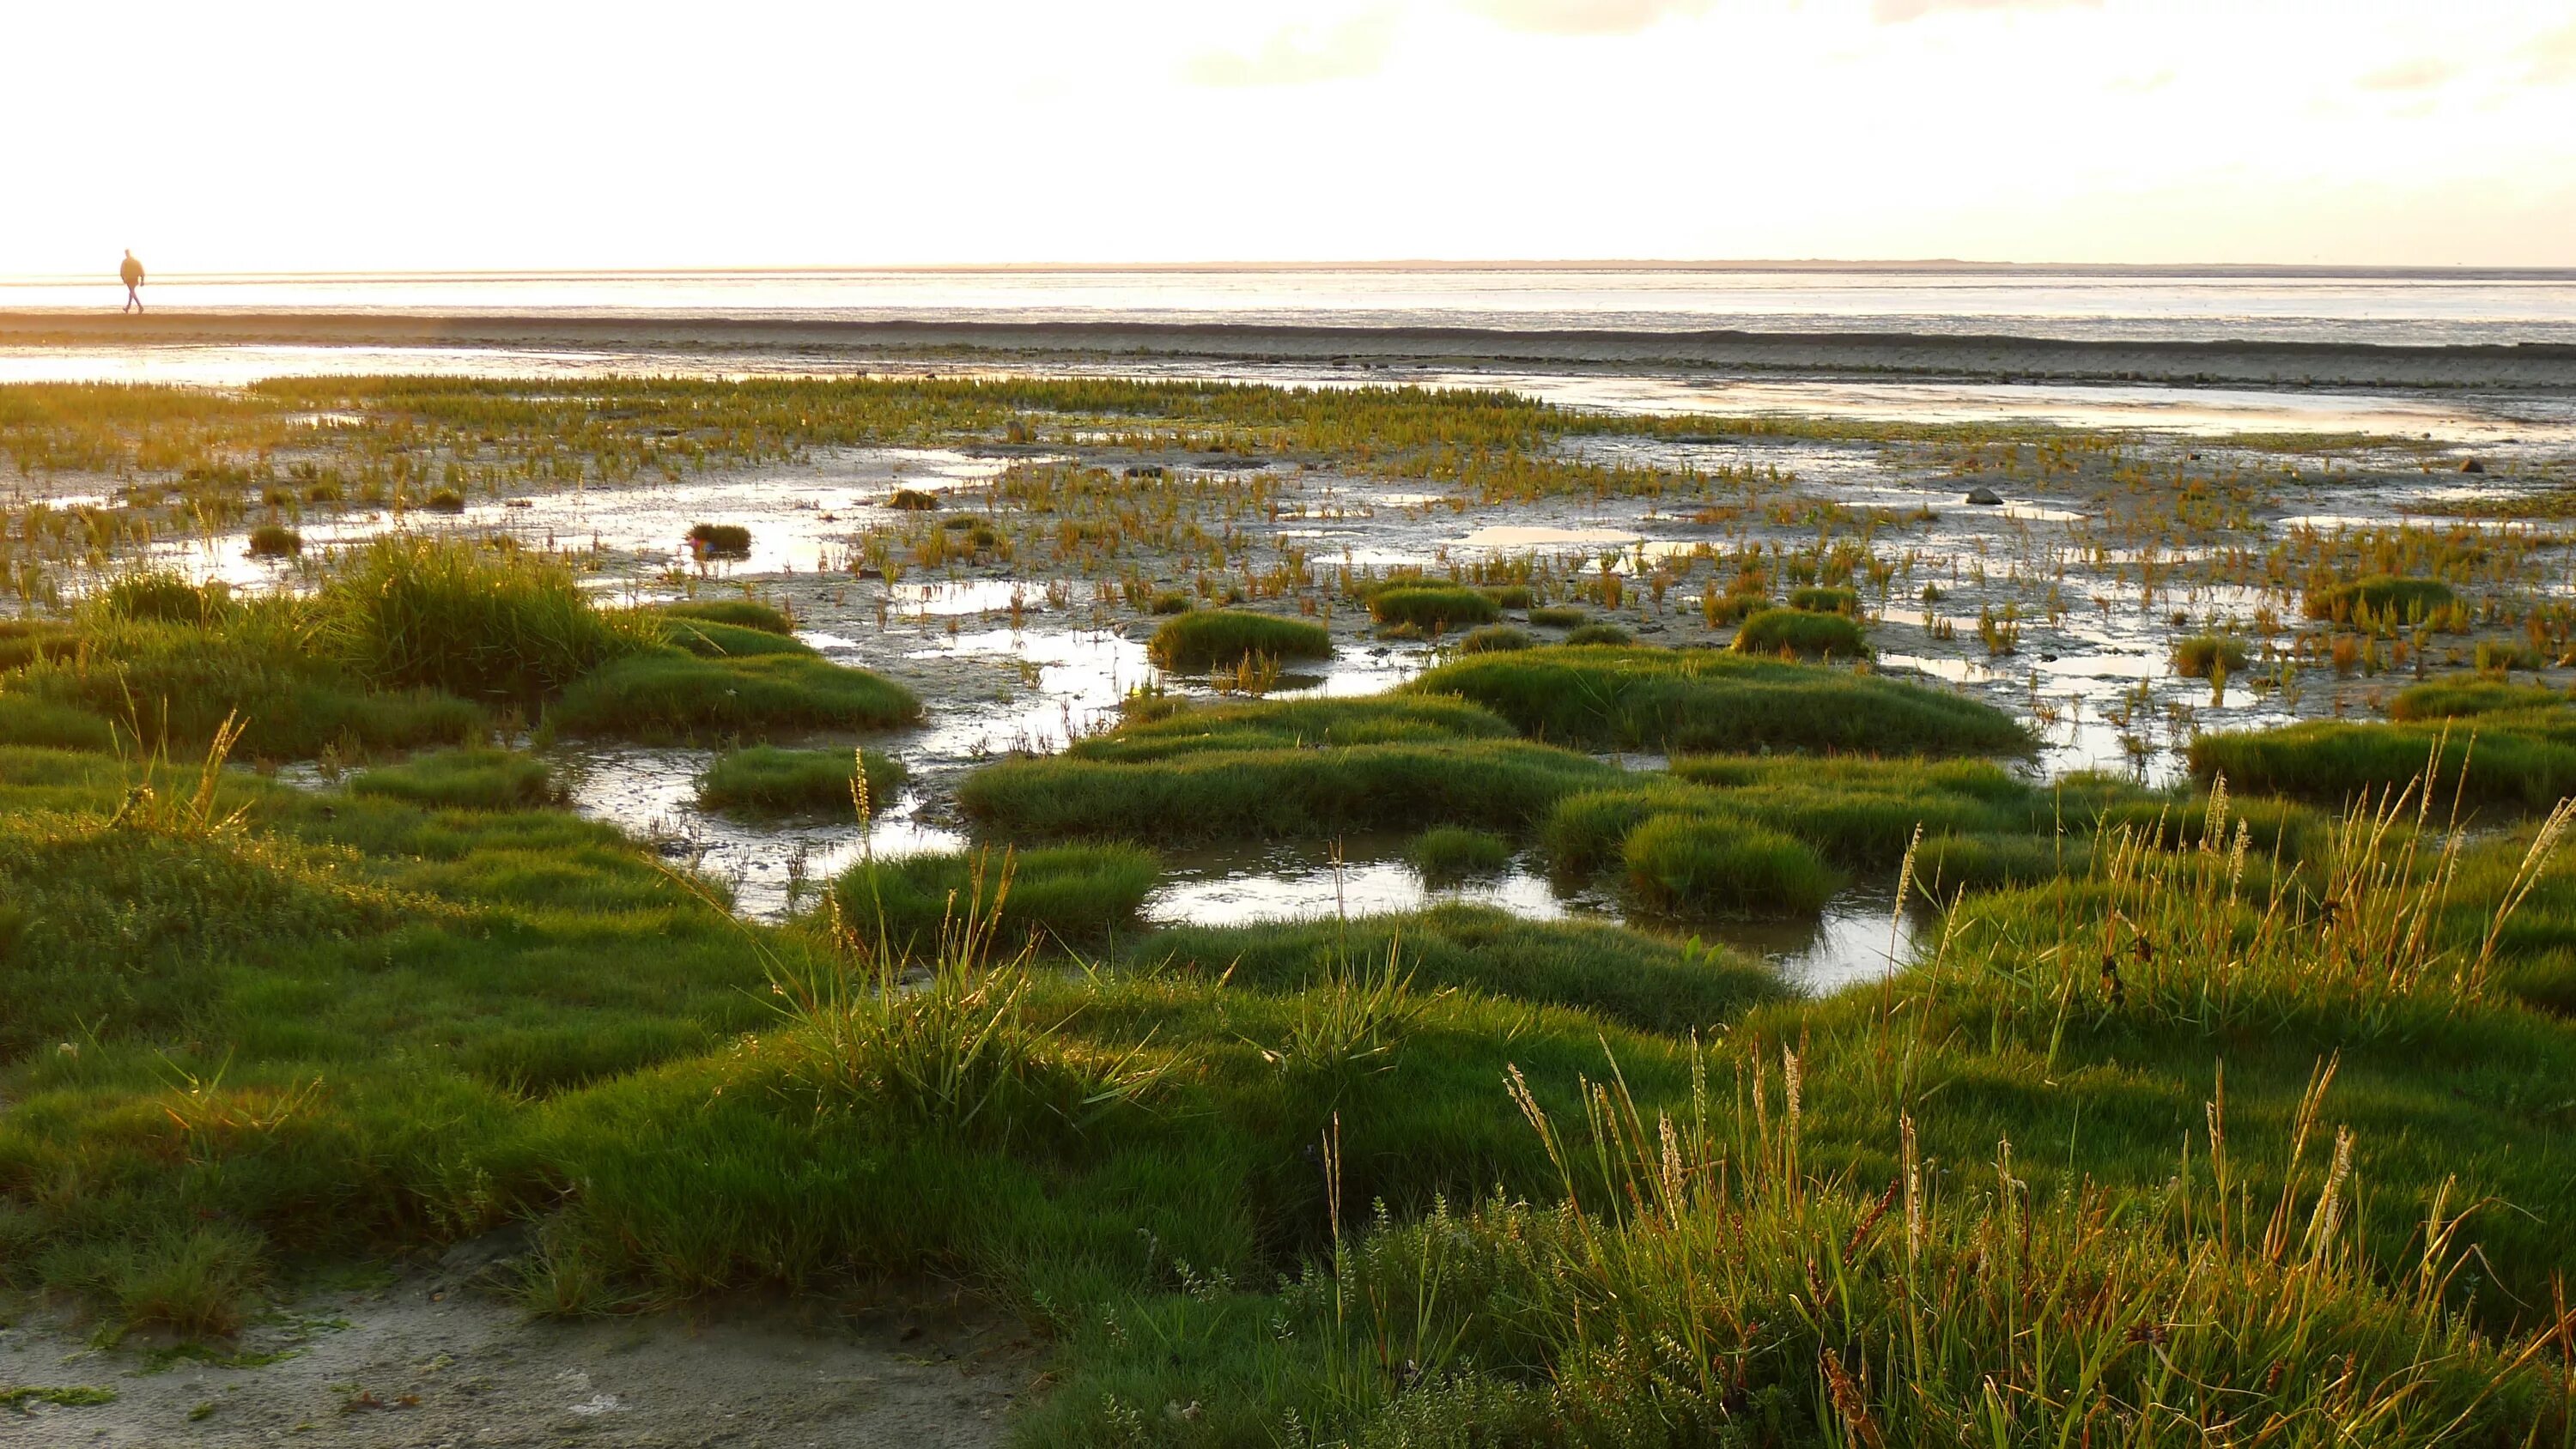
[[[698,659],[654,651],[631,654],[582,677],[546,710],[546,728],[644,741],[760,739],[894,728],[920,715],[922,703],[912,690],[814,654]]]

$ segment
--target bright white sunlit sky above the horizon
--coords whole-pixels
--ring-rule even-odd
[[[2576,265],[2568,0],[13,0],[0,273]]]

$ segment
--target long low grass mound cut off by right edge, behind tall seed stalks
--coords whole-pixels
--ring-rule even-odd
[[[2427,775],[2437,800],[2545,811],[2576,793],[2576,713],[2504,710],[2468,723],[2308,721],[2272,731],[2202,734],[2192,775],[2259,795],[2344,806]]]

